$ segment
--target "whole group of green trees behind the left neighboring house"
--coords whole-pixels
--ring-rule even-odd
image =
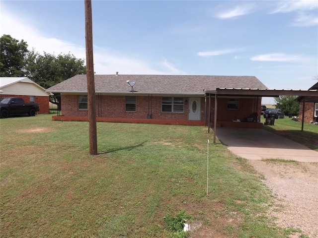
[[[29,51],[26,42],[20,42],[10,35],[0,38],[1,60],[0,76],[28,77],[43,88],[49,88],[77,74],[85,74],[84,60],[77,59],[71,53],[52,55],[44,52],[40,55],[34,49]],[[58,105],[57,96],[50,96],[50,102]]]

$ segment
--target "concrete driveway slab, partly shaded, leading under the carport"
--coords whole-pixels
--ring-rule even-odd
[[[216,136],[232,153],[248,160],[318,162],[317,151],[264,129],[217,127]]]

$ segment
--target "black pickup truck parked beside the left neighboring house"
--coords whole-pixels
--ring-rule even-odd
[[[31,117],[39,111],[39,104],[25,103],[22,98],[1,98],[0,111],[1,118],[21,114],[28,114]]]

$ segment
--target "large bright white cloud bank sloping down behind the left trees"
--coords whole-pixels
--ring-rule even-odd
[[[32,27],[32,23],[25,17],[19,18],[14,14],[10,14],[7,9],[1,9],[0,14],[0,34],[11,35],[17,40],[24,40],[28,44],[29,50],[32,48],[36,52],[49,54],[73,54],[76,58],[86,58],[85,46],[73,44],[54,37],[48,37],[44,33],[39,32]],[[4,24],[10,22],[10,24]],[[148,63],[143,60],[138,60],[134,57],[117,56],[107,52],[103,48],[94,45],[94,71],[96,74],[115,74],[118,71],[121,74],[168,74],[177,73],[178,70],[169,67],[165,63],[163,70],[153,69]],[[124,53],[121,53],[123,55]],[[163,63],[164,64],[164,63]]]

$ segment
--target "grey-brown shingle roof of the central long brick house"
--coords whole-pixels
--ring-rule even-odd
[[[207,75],[94,75],[96,93],[130,92],[127,80],[136,81],[138,93],[204,94],[216,88],[267,89],[255,76]],[[86,75],[76,75],[46,90],[47,92],[87,92]]]

